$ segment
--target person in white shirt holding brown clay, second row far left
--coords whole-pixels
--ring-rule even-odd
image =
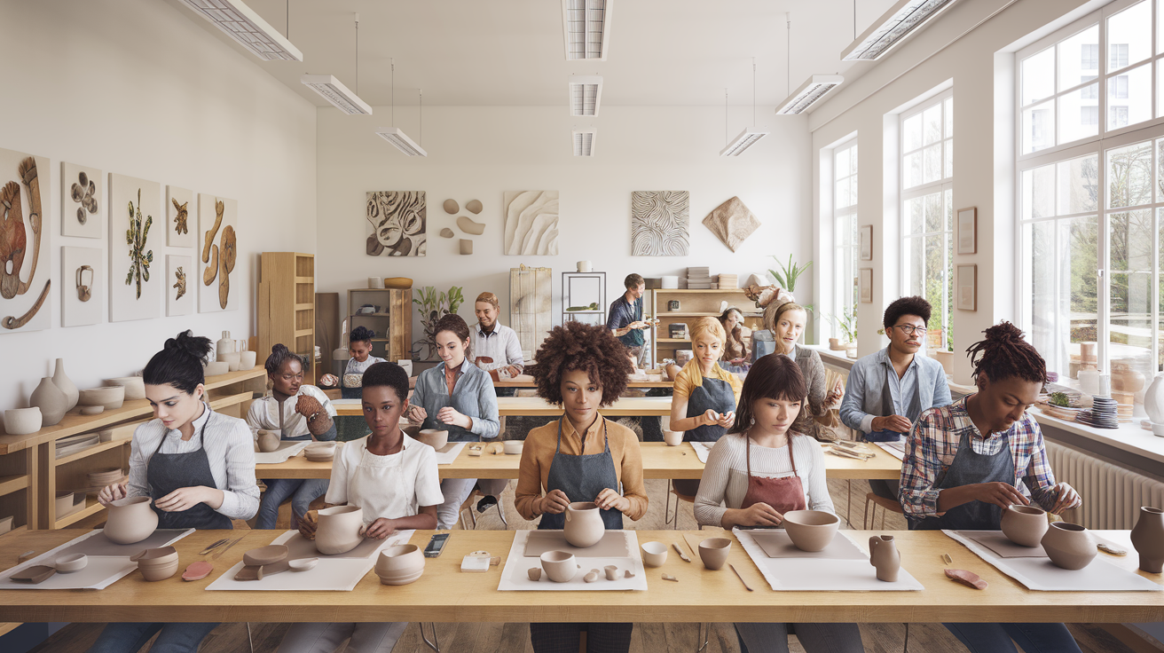
[[[281,440],[334,440],[335,407],[319,388],[303,384],[303,359],[285,345],[276,345],[264,367],[271,391],[247,411],[247,425],[255,438],[260,431],[276,431]],[[311,502],[327,491],[325,478],[264,478],[263,483],[267,491],[258,503],[256,528],[274,528],[279,505],[288,497],[293,528],[294,516],[306,513]]]

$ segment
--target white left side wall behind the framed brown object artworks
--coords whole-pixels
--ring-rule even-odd
[[[38,272],[54,279],[45,304],[52,328],[0,334],[0,409],[27,406],[58,356],[87,388],[141,369],[165,338],[185,328],[250,335],[257,253],[314,251],[315,107],[262,69],[278,64],[236,52],[194,21],[156,0],[0,1],[7,26],[0,147],[51,161],[52,260],[41,261]],[[240,308],[62,328],[61,246],[108,249],[104,237],[61,236],[62,161],[158,182],[163,201],[166,184],[237,199],[232,291],[241,293]],[[154,215],[161,235],[162,206]],[[183,253],[196,255],[155,247],[154,269],[164,276],[165,255]],[[102,313],[108,319],[108,306]]]

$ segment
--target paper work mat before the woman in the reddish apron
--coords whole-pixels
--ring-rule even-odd
[[[867,556],[861,560],[768,558],[747,531],[732,531],[744,551],[776,591],[916,591],[925,589],[904,566],[897,581],[876,580]],[[838,533],[844,537],[844,532]]]

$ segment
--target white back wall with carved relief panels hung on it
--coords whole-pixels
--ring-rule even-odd
[[[751,108],[732,107],[731,134],[751,120]],[[397,126],[416,140],[416,107],[397,107]],[[414,288],[464,289],[467,305],[459,312],[470,324],[473,298],[489,290],[502,300],[502,321],[509,318],[509,274],[521,263],[554,270],[554,321],[561,319],[561,272],[580,260],[606,272],[608,304],[630,272],[645,277],[684,275],[688,265],[709,265],[711,274],[738,274],[744,284],[752,271],[775,268],[767,256],[789,254],[805,263],[811,256],[811,175],[809,134],[803,118],[778,119],[773,107],[758,109],[759,126],[772,134],[737,158],[721,158],[724,147],[722,107],[604,106],[594,158],[572,156],[572,122],[565,107],[425,107],[424,148],[427,158],[407,158],[374,134],[390,122],[389,107],[372,116],[319,112],[319,243],[317,290],[340,292],[346,311],[350,288],[365,288],[367,277],[405,276]],[[585,122],[579,122],[584,125]],[[427,193],[428,255],[413,258],[372,257],[364,253],[364,193],[423,190]],[[559,256],[503,256],[502,193],[558,190]],[[690,191],[690,255],[631,257],[632,191]],[[762,227],[732,253],[703,225],[703,218],[732,196],[739,198]],[[462,207],[480,199],[487,223],[473,237],[474,254],[457,254],[456,215],[441,208],[446,199]],[[462,208],[462,214],[464,213]],[[457,237],[442,239],[443,227]],[[811,279],[801,277],[797,294],[811,297]],[[414,315],[413,336],[420,332]]]

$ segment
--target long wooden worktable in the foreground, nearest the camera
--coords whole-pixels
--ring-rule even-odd
[[[0,622],[1084,622],[1164,620],[1164,592],[1029,591],[947,538],[941,531],[893,532],[902,566],[922,591],[773,591],[759,569],[733,541],[731,562],[755,591],[724,567],[703,568],[683,541],[683,531],[639,531],[640,544],[677,542],[693,558],[683,562],[669,549],[661,568],[647,568],[646,591],[497,591],[513,531],[453,531],[440,558],[428,559],[424,575],[400,587],[379,584],[369,572],[353,591],[206,591],[206,587],[251,548],[270,544],[279,531],[249,531],[214,561],[200,581],[185,582],[182,569],[200,559],[207,545],[241,532],[198,531],[177,542],[178,574],[146,582],[134,572],[104,590],[3,590]],[[417,532],[424,545],[432,531]],[[716,528],[693,531],[722,537]],[[866,548],[868,531],[849,531]],[[1127,531],[1100,531],[1128,546]],[[0,538],[0,566],[21,553],[48,551],[80,534],[76,530],[29,531]],[[726,537],[732,537],[726,533]],[[734,540],[734,538],[732,538]],[[502,556],[484,574],[464,574],[461,559],[474,551]],[[942,554],[953,567],[989,583],[970,589],[945,577]],[[1135,569],[1135,552],[1123,558],[1101,553],[1108,562]],[[291,572],[288,572],[291,573]],[[679,582],[661,580],[670,574]],[[1143,574],[1161,583],[1159,574]]]

